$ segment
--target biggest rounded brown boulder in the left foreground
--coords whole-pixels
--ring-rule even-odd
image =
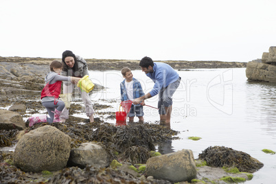
[[[19,139],[14,165],[27,172],[62,170],[70,156],[71,138],[54,126],[31,130]]]

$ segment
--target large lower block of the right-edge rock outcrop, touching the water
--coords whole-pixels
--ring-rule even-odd
[[[266,64],[262,60],[248,62],[246,77],[249,80],[276,82],[276,65]]]

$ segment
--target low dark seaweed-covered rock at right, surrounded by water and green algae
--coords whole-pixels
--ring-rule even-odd
[[[212,167],[238,168],[240,172],[255,172],[264,166],[263,163],[249,154],[225,146],[210,146],[198,155],[198,159]]]

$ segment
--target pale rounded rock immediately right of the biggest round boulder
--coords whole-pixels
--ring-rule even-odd
[[[108,152],[102,146],[92,142],[82,143],[79,148],[72,149],[68,161],[68,165],[80,168],[85,168],[87,165],[106,168],[110,163]]]

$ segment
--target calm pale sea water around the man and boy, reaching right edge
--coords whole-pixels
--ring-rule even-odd
[[[266,154],[262,149],[276,151],[276,84],[248,82],[245,68],[177,72],[182,80],[174,93],[171,128],[180,132],[181,139],[157,148],[163,153],[190,149],[195,159],[209,146],[233,148],[264,163],[246,183],[273,183],[276,154]],[[93,83],[107,87],[91,94],[91,99],[112,105],[102,111],[117,111],[119,83],[124,80],[122,74],[119,71],[90,71],[89,75]],[[153,82],[145,73],[133,71],[133,75],[141,82],[145,93],[152,89]],[[152,97],[146,104],[157,107],[157,100]],[[156,109],[147,106],[143,109],[146,122],[159,120]],[[115,119],[107,121],[115,124]],[[188,139],[191,136],[202,139],[192,141]]]

